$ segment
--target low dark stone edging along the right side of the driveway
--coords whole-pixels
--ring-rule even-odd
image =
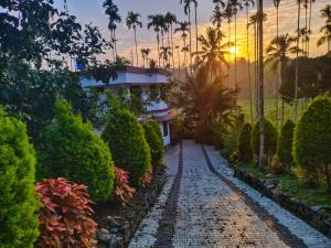
[[[328,223],[325,217],[319,213],[319,209],[310,208],[303,203],[297,202],[290,196],[277,192],[275,186],[268,186],[266,181],[259,180],[238,168],[234,168],[234,175],[331,238],[331,219]]]

